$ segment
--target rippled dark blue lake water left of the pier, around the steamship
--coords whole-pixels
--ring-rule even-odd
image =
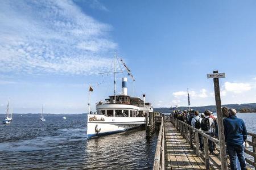
[[[86,139],[86,115],[14,116],[0,124],[1,169],[150,169],[157,134],[143,129]],[[4,118],[0,114],[0,120]]]

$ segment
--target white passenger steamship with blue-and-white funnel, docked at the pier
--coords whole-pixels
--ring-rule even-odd
[[[90,97],[89,97],[89,112],[87,120],[87,138],[93,138],[100,135],[118,133],[129,129],[137,128],[145,124],[145,113],[153,112],[152,105],[146,103],[145,95],[144,100],[139,97],[131,97],[127,95],[127,78],[122,78],[122,93],[121,95],[115,94],[115,73],[120,73],[115,69],[114,59],[114,95],[109,96],[109,99],[96,103],[96,113],[90,112]],[[122,59],[121,59],[122,62]],[[128,75],[134,80],[131,71],[123,63]],[[90,92],[93,91],[89,87]]]

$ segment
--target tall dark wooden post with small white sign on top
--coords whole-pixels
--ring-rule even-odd
[[[217,109],[218,138],[220,140],[221,169],[228,169],[226,161],[226,146],[221,111],[220,84],[218,82],[218,78],[225,78],[225,76],[225,73],[218,73],[218,71],[213,71],[213,74],[207,74],[207,78],[213,78],[214,83],[215,102]]]

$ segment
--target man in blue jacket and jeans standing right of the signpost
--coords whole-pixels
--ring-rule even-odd
[[[226,148],[230,158],[231,169],[236,167],[236,154],[242,170],[246,169],[245,157],[243,156],[243,142],[247,140],[245,122],[236,117],[237,111],[229,109],[229,117],[223,120]]]

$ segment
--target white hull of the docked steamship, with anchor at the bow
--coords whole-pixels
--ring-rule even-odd
[[[87,138],[119,133],[145,124],[145,117],[108,117],[88,114]]]

